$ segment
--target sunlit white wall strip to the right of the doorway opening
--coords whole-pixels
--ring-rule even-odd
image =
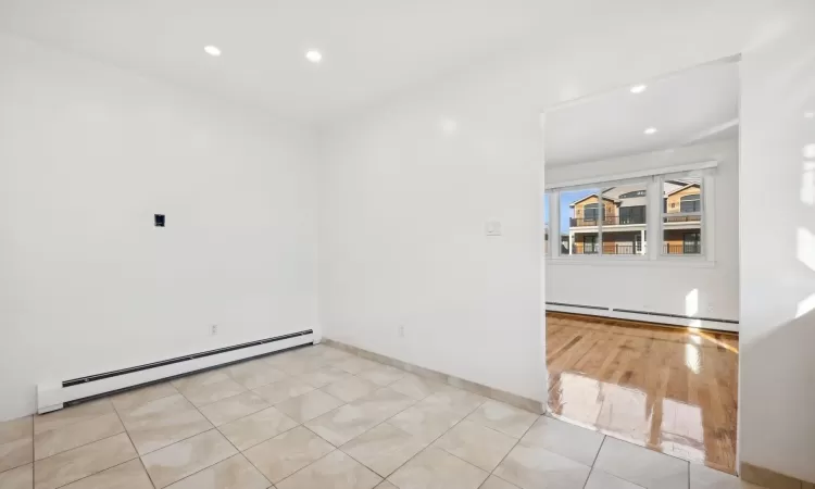
[[[740,455],[815,482],[815,30],[756,49],[742,79]]]

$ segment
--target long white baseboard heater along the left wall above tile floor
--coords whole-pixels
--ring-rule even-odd
[[[254,356],[289,350],[316,341],[314,331],[290,333],[248,343],[192,353],[85,377],[37,385],[37,412],[48,413],[66,404],[153,384]]]

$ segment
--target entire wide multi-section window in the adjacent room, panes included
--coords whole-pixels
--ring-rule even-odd
[[[622,256],[659,260],[661,256],[702,256],[712,252],[705,214],[713,192],[713,175],[702,170],[607,181],[587,187],[549,189],[554,211],[544,203],[549,254],[592,255],[591,260]],[[649,220],[649,209],[654,218]],[[659,216],[659,218],[657,218]],[[650,233],[649,233],[650,231]],[[649,238],[652,238],[649,243]],[[551,242],[556,241],[556,242]],[[712,256],[706,256],[712,260]]]

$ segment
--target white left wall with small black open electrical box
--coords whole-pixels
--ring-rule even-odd
[[[0,419],[39,381],[317,327],[310,133],[13,37],[0,66]]]

